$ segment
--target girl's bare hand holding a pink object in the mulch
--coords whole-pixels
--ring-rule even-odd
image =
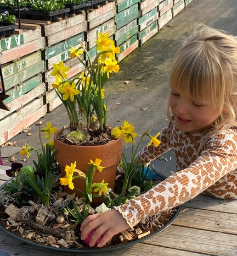
[[[87,238],[87,235],[95,230],[89,246],[94,246],[98,238],[102,237],[100,242],[97,244],[98,247],[104,246],[117,233],[127,230],[129,225],[125,218],[119,211],[114,209],[106,211],[105,213],[97,213],[89,215],[81,225],[81,239]]]

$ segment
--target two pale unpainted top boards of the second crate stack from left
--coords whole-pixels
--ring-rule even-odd
[[[86,13],[70,17],[59,22],[42,26],[43,35],[46,39],[46,46],[71,39],[84,31],[87,31]]]

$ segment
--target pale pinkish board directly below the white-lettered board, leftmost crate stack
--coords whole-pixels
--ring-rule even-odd
[[[20,57],[29,55],[29,53],[43,49],[44,45],[44,37],[40,37],[37,40],[24,43],[23,45],[20,45],[18,47],[12,48],[4,52],[0,52],[1,63],[7,63],[13,61],[14,59],[18,59]]]

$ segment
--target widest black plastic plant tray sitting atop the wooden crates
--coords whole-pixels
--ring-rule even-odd
[[[55,10],[54,12],[41,12],[35,10],[20,10],[21,19],[49,20],[55,21],[58,18],[66,18],[70,12],[69,8]]]

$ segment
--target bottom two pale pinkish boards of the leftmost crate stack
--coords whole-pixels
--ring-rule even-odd
[[[23,129],[29,127],[47,112],[47,106],[43,105],[43,97],[32,101],[19,112],[13,113],[0,121],[0,145],[13,138]]]

